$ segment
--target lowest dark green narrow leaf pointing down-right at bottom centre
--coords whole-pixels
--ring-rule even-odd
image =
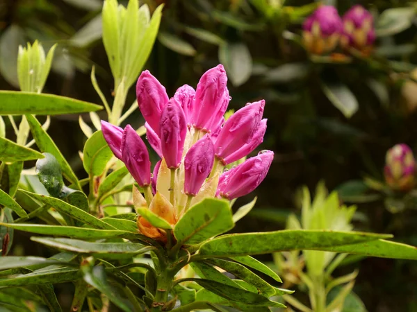
[[[256,306],[282,306],[278,302],[273,302],[267,297],[258,295],[257,293],[251,293],[250,291],[245,291],[241,288],[225,285],[219,283],[218,281],[211,281],[210,279],[189,279],[190,281],[195,281],[200,286],[203,286],[208,291],[224,297],[227,300],[234,302],[242,302],[245,304],[253,304]]]

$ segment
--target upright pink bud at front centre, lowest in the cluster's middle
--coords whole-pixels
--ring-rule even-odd
[[[197,195],[214,162],[214,145],[208,135],[191,146],[184,157],[184,191],[187,195]]]

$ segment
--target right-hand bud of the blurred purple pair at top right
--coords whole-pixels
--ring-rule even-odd
[[[352,6],[343,15],[343,34],[341,45],[358,50],[370,48],[375,42],[373,16],[363,6]]]

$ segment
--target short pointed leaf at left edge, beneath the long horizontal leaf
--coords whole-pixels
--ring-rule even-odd
[[[43,155],[36,150],[20,146],[13,141],[0,137],[0,160],[2,162],[19,162],[38,158],[43,158]]]

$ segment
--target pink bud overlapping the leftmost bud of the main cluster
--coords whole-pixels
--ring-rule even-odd
[[[126,125],[122,137],[122,161],[140,187],[151,184],[151,162],[145,143],[131,125]]]

